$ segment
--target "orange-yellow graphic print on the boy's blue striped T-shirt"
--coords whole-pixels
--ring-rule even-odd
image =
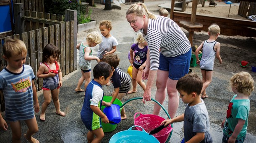
[[[19,80],[17,83],[11,83],[11,85],[15,92],[26,92],[26,90],[31,86],[31,82],[28,77],[26,79],[22,78],[22,80]]]

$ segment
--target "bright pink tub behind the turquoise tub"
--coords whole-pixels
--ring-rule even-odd
[[[136,118],[137,114],[140,114],[140,115]],[[141,126],[142,128],[144,128],[144,130],[147,133],[149,133],[151,130],[154,130],[154,128],[157,128],[162,123],[163,120],[165,119],[158,115],[152,115],[152,114],[143,115],[141,113],[134,114],[134,125]],[[136,129],[141,130],[141,128],[137,128],[137,127]],[[157,140],[160,143],[165,143],[172,129],[173,129],[172,126],[168,125],[166,128],[162,129],[160,132],[153,134],[153,136],[157,138]]]

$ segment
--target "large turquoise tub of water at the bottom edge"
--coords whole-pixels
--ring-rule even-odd
[[[149,135],[143,128],[140,130],[132,130],[133,127],[140,127],[133,125],[128,130],[120,131],[110,138],[110,143],[159,143],[157,138]]]

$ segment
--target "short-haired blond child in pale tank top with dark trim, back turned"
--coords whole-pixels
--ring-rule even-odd
[[[196,64],[200,63],[200,69],[203,77],[203,88],[201,91],[201,98],[207,98],[208,95],[206,95],[206,88],[209,86],[209,84],[212,82],[212,73],[213,73],[213,65],[214,65],[214,59],[215,55],[216,58],[219,60],[219,63],[222,63],[222,59],[219,55],[220,50],[220,43],[216,41],[220,33],[220,28],[217,24],[212,24],[208,28],[208,35],[209,39],[205,40],[204,42],[199,45],[199,47],[196,49]],[[201,60],[199,60],[199,51],[203,49],[203,55]]]

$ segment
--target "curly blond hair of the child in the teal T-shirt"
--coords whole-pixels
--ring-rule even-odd
[[[232,87],[236,88],[239,93],[251,95],[254,89],[254,80],[247,72],[236,73],[230,79]]]

